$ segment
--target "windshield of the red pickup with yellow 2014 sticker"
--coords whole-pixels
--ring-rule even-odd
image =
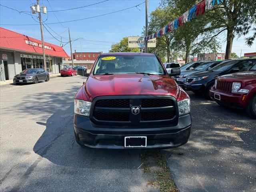
[[[100,56],[94,75],[144,73],[164,75],[164,68],[156,56],[111,55]]]

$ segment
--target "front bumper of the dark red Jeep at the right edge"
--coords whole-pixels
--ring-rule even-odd
[[[220,100],[214,98],[214,94],[220,95]],[[224,106],[228,106],[231,108],[236,109],[244,109],[246,107],[246,103],[243,100],[245,93],[228,93],[228,92],[221,92],[218,90],[214,90],[213,88],[210,90],[210,97],[212,100],[216,101],[219,104]]]

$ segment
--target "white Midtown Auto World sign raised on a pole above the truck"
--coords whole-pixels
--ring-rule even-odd
[[[128,47],[129,48],[144,48],[144,38],[145,37],[128,37]],[[148,47],[156,47],[156,38],[148,40]]]

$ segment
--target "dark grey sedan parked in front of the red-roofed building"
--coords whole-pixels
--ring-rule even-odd
[[[16,84],[21,83],[38,83],[39,81],[49,81],[50,76],[44,69],[25,69],[20,74],[14,76],[13,82]]]

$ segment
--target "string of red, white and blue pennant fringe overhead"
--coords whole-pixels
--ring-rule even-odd
[[[204,14],[207,10],[211,10],[214,4],[220,4],[223,0],[202,0],[198,4],[194,5],[190,10],[187,10],[180,17],[164,26],[158,32],[155,32],[145,37],[145,40],[150,40],[156,37],[160,37],[168,32],[172,32],[174,29],[184,25],[184,23],[196,18],[198,15]]]

